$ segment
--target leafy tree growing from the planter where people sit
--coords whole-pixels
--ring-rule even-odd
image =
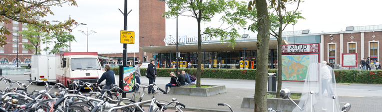
[[[235,9],[240,3],[235,0],[168,0],[166,1],[169,11],[166,11],[163,16],[174,17],[174,16],[187,16],[196,19],[198,24],[198,68],[197,68],[197,83],[196,87],[200,88],[200,76],[201,76],[201,62],[202,58],[202,45],[201,36],[209,35],[211,37],[220,38],[221,42],[230,42],[232,47],[235,45],[235,38],[240,37],[237,33],[235,25],[244,27],[246,21],[240,17],[237,17],[231,13],[232,9]],[[182,12],[182,13],[178,13]],[[204,33],[201,33],[201,23],[211,22],[211,19],[217,14],[223,13],[224,15],[220,18],[223,24],[226,23],[228,26],[226,28],[219,27],[206,27]],[[223,38],[230,37],[227,40]],[[206,38],[206,37],[205,37]]]

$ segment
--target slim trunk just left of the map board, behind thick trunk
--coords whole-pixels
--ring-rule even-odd
[[[281,14],[281,0],[278,0],[278,4],[279,4],[279,38],[277,38],[277,93],[276,93],[276,98],[281,98],[280,97],[280,90],[281,90],[281,87],[282,87],[282,84],[283,84],[283,66],[282,66],[282,61],[281,61],[281,54],[282,54],[282,42],[283,42],[283,16]]]

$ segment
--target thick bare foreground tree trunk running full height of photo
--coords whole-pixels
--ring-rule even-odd
[[[267,112],[267,76],[269,52],[270,20],[267,10],[267,0],[256,0],[257,16],[257,58],[255,85],[255,112]]]

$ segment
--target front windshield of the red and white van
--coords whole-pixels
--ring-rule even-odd
[[[70,65],[71,70],[101,69],[97,58],[72,58]]]

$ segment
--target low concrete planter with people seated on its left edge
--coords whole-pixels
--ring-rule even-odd
[[[190,86],[192,85],[171,87],[169,94],[208,97],[208,96],[227,92],[226,86],[202,85],[202,86],[212,86],[208,88],[191,88]]]

